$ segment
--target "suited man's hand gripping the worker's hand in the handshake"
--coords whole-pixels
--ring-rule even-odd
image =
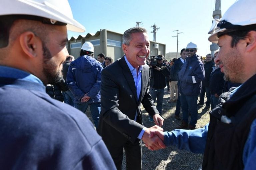
[[[156,125],[151,128],[147,128],[142,136],[145,146],[150,150],[164,149],[166,147],[164,142],[157,135],[152,136],[152,134],[158,133],[156,131],[163,132],[163,130],[163,128]]]

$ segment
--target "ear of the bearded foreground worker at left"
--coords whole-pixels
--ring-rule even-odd
[[[37,48],[40,40],[33,32],[27,31],[22,33],[19,36],[19,41],[23,52],[26,53],[28,57],[33,58],[37,56]]]

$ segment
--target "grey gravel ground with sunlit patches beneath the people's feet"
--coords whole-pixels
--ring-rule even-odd
[[[167,101],[169,100],[169,97],[169,93],[165,92],[162,111],[162,116],[165,119],[162,127],[164,131],[171,131],[180,125],[180,121],[174,118],[176,103],[168,103]],[[202,111],[202,109],[203,107],[198,108],[198,121],[196,128],[204,127],[209,122],[208,112]],[[146,113],[143,106],[141,110],[144,126],[147,128],[154,126],[154,122],[149,122],[148,113]],[[89,108],[87,109],[87,116],[91,117]],[[180,116],[182,118],[182,111]],[[184,149],[177,149],[175,146],[169,146],[165,149],[151,151],[148,150],[143,143],[142,152],[143,170],[198,170],[201,167],[203,160],[203,154],[193,154]],[[126,169],[125,154],[123,156],[122,169]]]

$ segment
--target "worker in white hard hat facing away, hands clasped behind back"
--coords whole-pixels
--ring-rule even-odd
[[[67,73],[67,84],[75,96],[74,106],[83,113],[88,106],[92,119],[98,128],[100,117],[100,83],[102,64],[94,57],[94,47],[91,42],[85,42],[80,51],[80,57],[72,61]]]

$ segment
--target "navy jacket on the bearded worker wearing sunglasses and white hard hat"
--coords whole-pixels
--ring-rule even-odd
[[[201,91],[201,81],[205,79],[204,64],[199,55],[186,58],[179,72],[180,86],[179,92],[186,96],[199,95]]]

